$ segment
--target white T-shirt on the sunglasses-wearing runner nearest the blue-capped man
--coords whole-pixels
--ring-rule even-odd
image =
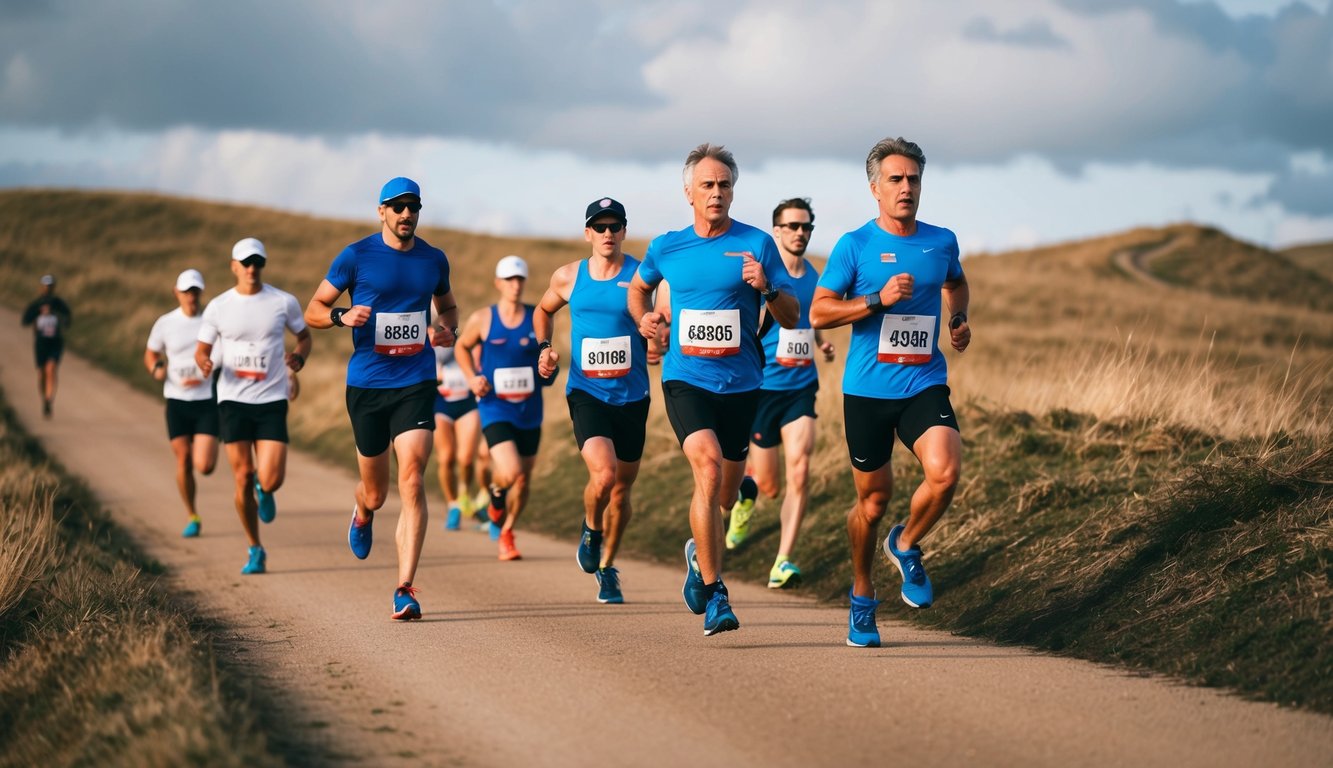
[[[296,297],[272,285],[247,296],[235,288],[208,303],[199,340],[223,348],[217,401],[287,400],[287,351],[283,329],[300,333],[305,317]]]

